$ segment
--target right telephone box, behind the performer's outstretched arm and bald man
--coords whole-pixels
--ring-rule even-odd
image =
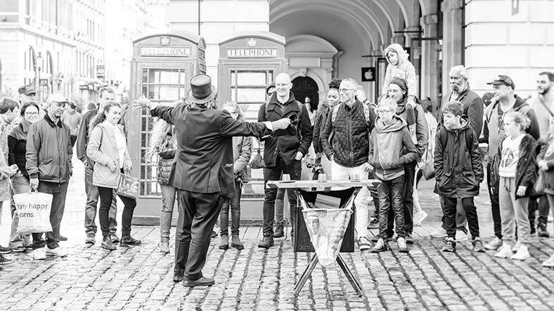
[[[271,32],[235,32],[219,40],[218,102],[240,105],[247,121],[257,121],[261,105],[268,100],[266,87],[277,74],[287,72],[285,38]],[[258,142],[252,138],[252,153]],[[263,146],[262,146],[263,151]],[[262,170],[252,170],[241,197],[241,223],[259,223],[264,201]],[[286,201],[286,200],[285,200]]]

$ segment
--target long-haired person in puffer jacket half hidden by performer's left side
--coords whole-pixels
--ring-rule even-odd
[[[175,126],[159,119],[150,136],[150,147],[146,159],[157,155],[157,183],[162,190],[162,210],[160,211],[160,252],[169,253],[169,230],[172,227],[173,208],[175,206],[176,188],[169,183],[177,140]]]

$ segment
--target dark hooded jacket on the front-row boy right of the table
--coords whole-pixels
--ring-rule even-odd
[[[452,130],[440,127],[439,131],[446,131],[446,145],[442,145],[438,132],[435,140],[434,172],[437,192],[443,197],[475,197],[484,178],[477,135],[473,133],[471,150],[468,150],[465,131],[473,131],[473,128],[467,116],[463,116],[460,123],[460,128]]]

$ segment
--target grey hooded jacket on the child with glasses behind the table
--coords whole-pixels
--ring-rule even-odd
[[[392,180],[404,175],[404,164],[417,157],[408,124],[397,115],[392,116],[389,124],[385,124],[380,117],[375,119],[371,142],[369,164],[375,166],[375,176],[381,180]]]

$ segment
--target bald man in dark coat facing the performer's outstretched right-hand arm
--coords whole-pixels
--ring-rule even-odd
[[[308,153],[312,131],[308,112],[299,104],[290,89],[290,76],[285,73],[275,78],[276,91],[265,105],[259,107],[258,121],[276,121],[293,115],[299,119],[293,132],[296,135],[266,138],[264,146],[264,183],[268,180],[279,180],[281,174],[289,174],[290,180],[299,180],[302,170],[302,157]],[[262,139],[263,140],[263,139]],[[290,217],[295,219],[297,194],[287,191],[290,203]],[[258,244],[263,249],[273,246],[273,220],[277,189],[266,187],[264,198],[264,239]]]

